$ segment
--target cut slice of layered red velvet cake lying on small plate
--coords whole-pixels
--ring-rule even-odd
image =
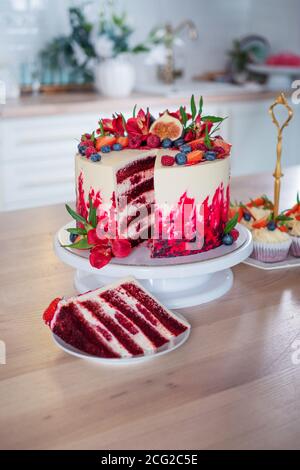
[[[153,354],[190,328],[133,278],[54,299],[43,319],[69,345],[104,358]]]

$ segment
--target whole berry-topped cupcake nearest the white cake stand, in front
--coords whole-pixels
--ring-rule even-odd
[[[284,261],[289,253],[291,238],[286,226],[286,217],[273,214],[257,220],[252,225],[253,252],[251,258],[263,263]]]

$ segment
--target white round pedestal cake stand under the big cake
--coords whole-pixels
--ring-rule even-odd
[[[74,285],[79,293],[96,289],[126,276],[134,276],[168,308],[184,308],[217,299],[228,292],[233,284],[231,267],[244,261],[252,252],[249,230],[238,226],[239,239],[230,247],[220,246],[207,253],[177,258],[150,258],[147,247],[140,246],[130,256],[114,258],[102,269],[93,268],[88,252],[63,248],[69,244],[67,228],[55,235],[57,256],[76,269]]]

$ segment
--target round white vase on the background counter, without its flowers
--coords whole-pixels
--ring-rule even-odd
[[[135,84],[135,69],[125,58],[117,57],[101,62],[95,70],[95,85],[105,96],[129,96]]]

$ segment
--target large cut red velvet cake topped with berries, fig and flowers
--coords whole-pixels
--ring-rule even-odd
[[[114,115],[82,136],[71,246],[91,249],[92,266],[143,242],[166,258],[235,241],[227,228],[231,145],[216,135],[223,118],[205,116],[202,105],[192,97],[190,113]]]

